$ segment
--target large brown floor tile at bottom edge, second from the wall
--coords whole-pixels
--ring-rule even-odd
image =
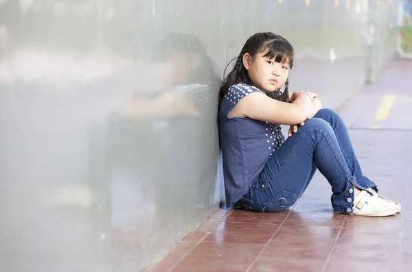
[[[264,245],[239,243],[201,243],[185,258],[180,267],[202,267],[205,269],[241,270],[249,267]]]

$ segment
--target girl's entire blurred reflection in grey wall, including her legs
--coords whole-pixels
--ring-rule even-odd
[[[171,34],[154,52],[149,69],[163,90],[149,97],[137,94],[111,129],[111,168],[117,177],[111,182],[112,214],[128,244],[136,241],[128,239],[136,235],[133,230],[146,230],[141,234],[146,240],[156,238],[148,233],[153,230],[172,232],[176,222],[183,222],[179,211],[187,206],[208,209],[216,173],[213,116],[218,101],[211,97],[216,97],[220,79],[205,47],[194,36]],[[151,217],[148,212],[153,212]],[[147,243],[161,247],[168,241]]]

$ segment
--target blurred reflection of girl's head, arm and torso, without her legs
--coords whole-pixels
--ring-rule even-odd
[[[205,47],[192,35],[170,34],[153,52],[150,70],[163,90],[152,97],[136,97],[124,112],[129,119],[150,123],[157,139],[159,155],[148,153],[146,160],[153,158],[154,165],[161,165],[155,184],[162,205],[209,205],[204,196],[205,190],[213,187],[218,151],[213,118],[218,101],[212,97],[216,97],[213,92],[217,92],[220,78]],[[173,197],[170,192],[174,192]]]

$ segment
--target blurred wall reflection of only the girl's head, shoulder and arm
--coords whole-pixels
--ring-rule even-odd
[[[211,60],[201,42],[187,34],[171,34],[153,48],[150,68],[163,91],[153,97],[136,97],[124,109],[135,119],[171,119],[201,116],[210,105],[211,88],[218,84]]]

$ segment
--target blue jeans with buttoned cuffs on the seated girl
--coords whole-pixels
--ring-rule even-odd
[[[273,153],[240,206],[259,212],[286,210],[308,188],[317,169],[332,186],[337,212],[352,212],[353,186],[378,190],[363,175],[339,114],[322,109]]]

